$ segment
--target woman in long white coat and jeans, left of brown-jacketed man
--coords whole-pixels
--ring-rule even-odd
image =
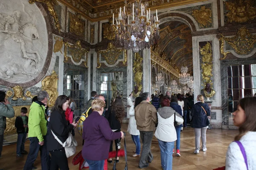
[[[140,131],[137,130],[134,108],[137,105],[139,105],[141,101],[142,101],[141,97],[137,97],[135,99],[134,105],[131,106],[129,111],[130,119],[129,119],[129,125],[128,125],[128,132],[131,134],[131,139],[136,146],[136,151],[133,155],[134,157],[140,155]]]

